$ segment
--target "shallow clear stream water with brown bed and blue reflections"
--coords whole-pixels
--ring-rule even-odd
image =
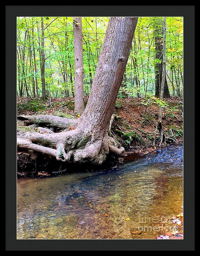
[[[182,210],[182,159],[183,147],[169,146],[98,172],[18,179],[17,238],[154,239]]]

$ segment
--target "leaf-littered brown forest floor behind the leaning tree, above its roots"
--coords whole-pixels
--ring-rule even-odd
[[[85,98],[85,104],[87,98]],[[163,129],[166,142],[171,143],[172,138],[176,143],[183,142],[183,99],[171,96],[165,99],[163,107]],[[156,150],[153,140],[158,120],[157,98],[118,98],[115,103],[114,113],[122,118],[113,122],[111,134],[123,146],[127,153],[148,154]],[[51,98],[47,101],[31,99],[30,97],[17,97],[18,115],[48,114],[60,117],[74,117],[74,98]],[[17,121],[17,126],[22,131],[30,131],[28,126],[23,126],[22,121]],[[157,131],[156,138],[159,139]],[[168,139],[169,138],[169,139]],[[158,142],[156,143],[158,144]]]

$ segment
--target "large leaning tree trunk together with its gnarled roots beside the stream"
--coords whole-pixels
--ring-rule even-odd
[[[19,132],[18,151],[40,152],[57,160],[97,165],[102,164],[109,153],[120,155],[124,151],[124,148],[118,149],[108,132],[137,19],[110,17],[88,103],[81,117],[71,119],[70,126],[56,134]],[[33,117],[21,118],[31,120]],[[49,126],[56,126],[53,119],[57,117],[48,118],[52,118]],[[43,117],[38,120],[43,123]]]

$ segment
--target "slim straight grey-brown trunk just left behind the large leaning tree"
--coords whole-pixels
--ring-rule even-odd
[[[75,65],[75,98],[74,110],[76,114],[84,111],[84,92],[83,92],[83,40],[82,40],[82,21],[81,17],[73,17],[74,28],[74,65]]]

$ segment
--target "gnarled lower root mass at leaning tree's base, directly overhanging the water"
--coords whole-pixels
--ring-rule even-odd
[[[56,134],[19,132],[17,149],[29,154],[47,154],[60,161],[95,165],[102,164],[109,152],[119,156],[124,151],[124,148],[117,148],[117,143],[111,137],[95,139],[90,132],[79,129]]]

